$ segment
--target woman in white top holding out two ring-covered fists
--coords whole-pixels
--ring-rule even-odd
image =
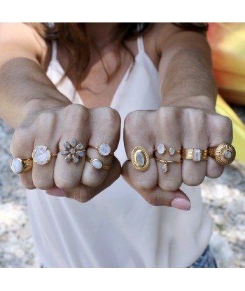
[[[44,266],[214,266],[197,185],[232,125],[188,25],[1,25],[0,112]]]

